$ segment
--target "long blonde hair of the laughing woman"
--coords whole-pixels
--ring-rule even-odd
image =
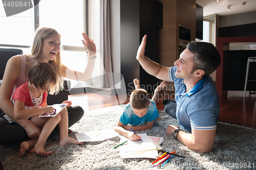
[[[60,34],[52,29],[43,27],[37,30],[36,35],[34,37],[34,41],[31,48],[31,54],[29,55],[32,58],[37,57],[41,52],[42,42],[44,42],[45,39],[52,37],[54,35]],[[56,78],[56,85],[50,87],[50,94],[57,94],[60,90],[63,90],[63,76],[62,76],[62,69],[61,69],[61,60],[60,60],[60,52],[58,52],[55,55],[55,59],[52,61],[50,60],[48,62],[53,69],[57,72],[57,78]]]

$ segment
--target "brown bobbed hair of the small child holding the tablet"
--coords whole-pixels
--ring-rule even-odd
[[[29,69],[29,82],[36,88],[46,90],[46,85],[55,86],[57,82],[56,71],[48,63],[36,62]]]

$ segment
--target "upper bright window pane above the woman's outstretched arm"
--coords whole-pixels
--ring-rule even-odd
[[[39,26],[57,30],[62,45],[83,46],[83,20],[83,0],[44,0],[39,3]]]

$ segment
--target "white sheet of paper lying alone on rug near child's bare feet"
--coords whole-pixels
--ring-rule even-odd
[[[99,130],[94,132],[76,133],[76,138],[79,142],[83,141],[102,141],[112,137],[116,137],[119,134],[112,129]]]

